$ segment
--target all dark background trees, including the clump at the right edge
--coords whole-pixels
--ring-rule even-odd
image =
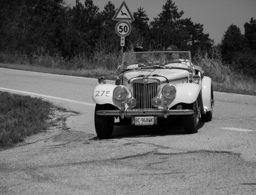
[[[45,67],[109,67],[109,62],[105,65],[103,61],[95,65],[95,56],[103,51],[107,56],[120,51],[120,37],[114,31],[117,21],[112,19],[117,9],[110,1],[101,12],[93,0],[76,0],[73,7],[66,6],[64,0],[0,1],[2,62],[11,62],[10,56],[14,56],[16,62]],[[180,50],[191,51],[192,56],[207,51],[211,57],[215,46],[209,34],[204,33],[204,26],[183,14],[174,1],[166,0],[162,11],[149,22],[146,10],[139,7],[133,13],[135,20],[131,34],[125,37],[124,51],[132,51],[136,46],[165,50],[176,45]],[[228,27],[218,46],[221,61],[235,72],[255,77],[256,19],[251,18],[244,28],[242,35],[237,26]]]

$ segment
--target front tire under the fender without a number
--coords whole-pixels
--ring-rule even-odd
[[[195,110],[195,113],[182,116],[183,128],[187,134],[197,133],[199,120],[200,120],[200,111],[199,111],[198,101],[196,100],[192,104],[186,104],[184,107],[185,107],[184,109]]]

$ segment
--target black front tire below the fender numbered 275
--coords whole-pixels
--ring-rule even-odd
[[[94,113],[94,125],[98,138],[109,139],[114,129],[114,116],[103,116],[96,114],[98,110],[112,110],[112,105],[109,104],[96,104]]]

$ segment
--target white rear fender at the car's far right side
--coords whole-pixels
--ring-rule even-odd
[[[211,78],[204,76],[202,78],[202,103],[207,111],[211,109],[211,87]]]

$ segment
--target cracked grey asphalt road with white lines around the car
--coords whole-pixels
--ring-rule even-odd
[[[112,83],[113,81],[108,81]],[[179,120],[117,126],[99,140],[96,79],[0,68],[0,90],[80,114],[0,151],[0,194],[255,194],[256,96],[214,92],[213,119],[187,135]],[[1,97],[0,97],[1,98]]]

